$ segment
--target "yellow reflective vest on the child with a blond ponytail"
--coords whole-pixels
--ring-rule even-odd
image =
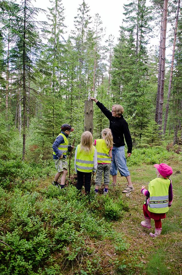
[[[96,140],[97,149],[97,162],[98,163],[111,163],[111,158],[109,156],[109,148],[106,146],[106,142],[103,139]]]

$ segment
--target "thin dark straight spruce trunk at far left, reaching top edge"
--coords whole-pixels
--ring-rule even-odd
[[[25,141],[26,141],[26,75],[25,75],[25,31],[26,31],[26,0],[24,5],[24,28],[23,28],[23,155],[25,160]]]

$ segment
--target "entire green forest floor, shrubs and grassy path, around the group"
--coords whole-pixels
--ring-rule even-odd
[[[121,192],[126,179],[120,175],[108,196],[102,195],[103,185],[97,197],[94,186],[86,196],[72,178],[64,190],[51,184],[52,160],[0,160],[0,275],[180,274],[181,156],[144,149],[128,159],[135,188],[130,198]],[[148,159],[149,165],[132,158]],[[158,240],[140,226],[140,189],[155,178],[153,162],[167,162],[174,171],[174,201]]]

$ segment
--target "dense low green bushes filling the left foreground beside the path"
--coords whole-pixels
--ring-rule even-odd
[[[72,266],[74,274],[101,274],[102,257],[92,243],[109,242],[118,255],[127,250],[123,235],[112,228],[112,221],[128,210],[127,203],[95,198],[93,188],[90,196],[71,185],[28,189],[0,188],[1,275],[62,274]]]

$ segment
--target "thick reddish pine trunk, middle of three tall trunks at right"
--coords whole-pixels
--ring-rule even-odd
[[[167,28],[167,3],[168,0],[164,0],[164,28],[163,28],[163,42],[162,42],[162,65],[161,65],[161,88],[160,88],[160,100],[159,100],[159,131],[160,135],[163,122],[163,101],[164,101],[164,81],[165,81],[165,51],[166,51],[166,28]]]

